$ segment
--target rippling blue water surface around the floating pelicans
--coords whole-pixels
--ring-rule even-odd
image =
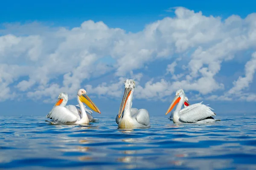
[[[211,125],[151,117],[122,130],[113,118],[50,125],[44,117],[0,117],[0,169],[256,169],[256,117]]]

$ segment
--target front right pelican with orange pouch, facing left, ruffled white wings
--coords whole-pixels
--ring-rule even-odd
[[[185,93],[182,89],[178,90],[176,92],[176,96],[173,99],[170,107],[168,108],[166,114],[168,114],[172,109],[175,107],[176,104],[176,110],[173,114],[173,122],[174,123],[209,123],[209,122],[215,122],[220,120],[215,120],[212,116],[215,116],[216,114],[212,112],[212,108],[208,107],[207,105],[200,103],[196,103],[193,105],[189,105],[186,108],[181,107],[185,100]]]

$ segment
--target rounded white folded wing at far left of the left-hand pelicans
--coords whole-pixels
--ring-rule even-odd
[[[71,123],[76,122],[78,117],[74,113],[63,106],[55,106],[47,114],[47,118],[51,118],[53,122]]]

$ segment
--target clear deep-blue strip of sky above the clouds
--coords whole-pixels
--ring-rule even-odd
[[[255,12],[253,0],[33,0],[3,1],[0,7],[0,23],[32,21],[46,22],[49,25],[74,27],[85,20],[103,21],[109,27],[123,28],[127,31],[140,31],[145,24],[173,16],[167,9],[177,6],[202,11],[204,15],[229,17],[237,14],[246,17]],[[125,20],[125,22],[123,22]]]

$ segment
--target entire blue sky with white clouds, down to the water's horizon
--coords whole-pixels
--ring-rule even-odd
[[[180,86],[190,103],[204,101],[217,114],[254,114],[255,68],[246,64],[255,62],[255,42],[249,40],[255,16],[247,17],[255,5],[220,0],[4,1],[1,114],[44,116],[59,92],[68,92],[68,104],[76,104],[76,91],[85,88],[102,116],[115,116],[124,90],[120,82],[126,78],[138,82],[133,106],[154,116],[164,116]],[[183,8],[173,8],[177,6]],[[228,17],[230,24],[225,24]],[[167,73],[172,63],[175,70]]]

